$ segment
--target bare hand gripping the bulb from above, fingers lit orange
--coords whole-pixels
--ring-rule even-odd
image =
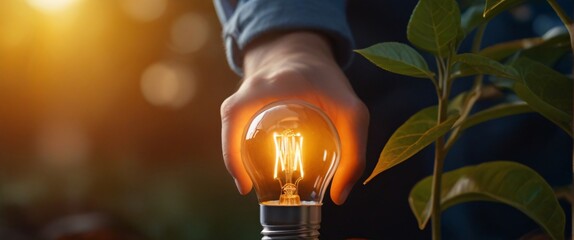
[[[335,62],[327,39],[313,32],[264,36],[245,49],[244,81],[221,105],[223,158],[241,194],[253,183],[241,160],[243,129],[263,106],[301,99],[331,118],[341,138],[341,160],[331,199],[343,204],[365,167],[369,113]]]

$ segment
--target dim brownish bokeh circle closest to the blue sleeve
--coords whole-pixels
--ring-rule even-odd
[[[183,14],[171,26],[172,49],[178,53],[198,51],[205,46],[209,36],[209,22],[198,13]]]

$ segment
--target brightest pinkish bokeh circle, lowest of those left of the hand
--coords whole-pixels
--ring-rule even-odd
[[[195,81],[190,69],[158,62],[143,72],[141,89],[145,99],[153,105],[181,108],[195,94]]]

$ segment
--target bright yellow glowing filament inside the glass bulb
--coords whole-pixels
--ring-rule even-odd
[[[303,136],[300,133],[293,133],[285,130],[282,133],[273,133],[275,141],[275,168],[273,178],[281,185],[280,204],[297,205],[300,204],[297,195],[297,186],[303,179]],[[293,173],[299,172],[299,177],[293,181]],[[281,173],[281,175],[279,175]],[[284,182],[281,181],[284,177]]]

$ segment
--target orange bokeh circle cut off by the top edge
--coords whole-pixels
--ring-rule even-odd
[[[158,19],[167,7],[166,0],[120,0],[120,4],[128,16],[142,22]]]

